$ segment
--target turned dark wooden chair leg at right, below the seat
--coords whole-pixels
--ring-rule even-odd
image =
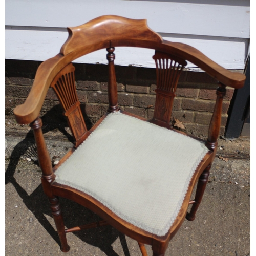
[[[211,165],[208,165],[198,179],[195,203],[192,205],[190,212],[189,213],[187,212],[187,215],[186,215],[186,219],[188,221],[194,221],[196,218],[196,212],[202,201],[204,190],[208,182],[210,167]]]

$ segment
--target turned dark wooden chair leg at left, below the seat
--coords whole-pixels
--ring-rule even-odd
[[[62,252],[68,252],[70,247],[67,243],[67,237],[65,232],[65,226],[63,222],[62,212],[59,205],[59,200],[57,197],[49,198],[49,202],[51,204],[52,216],[58,231],[61,247],[60,250]]]

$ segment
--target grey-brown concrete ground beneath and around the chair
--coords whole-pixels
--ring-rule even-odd
[[[61,131],[46,133],[53,163],[72,146],[68,129]],[[61,252],[29,126],[7,124],[6,140],[6,255],[140,255],[137,242],[111,226],[68,233],[70,251]],[[250,141],[221,139],[217,154],[196,220],[184,221],[166,255],[250,255]],[[100,219],[60,203],[68,228]]]

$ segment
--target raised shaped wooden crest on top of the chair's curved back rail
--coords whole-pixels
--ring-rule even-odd
[[[68,32],[69,37],[60,50],[64,56],[103,41],[123,39],[124,33],[130,40],[163,41],[158,33],[148,28],[146,19],[130,19],[116,15],[97,17],[86,24],[68,28]]]

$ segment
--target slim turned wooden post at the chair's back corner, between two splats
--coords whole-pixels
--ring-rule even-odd
[[[115,53],[114,47],[106,49],[108,54],[106,54],[106,59],[109,61],[109,109],[108,112],[116,112],[119,110],[117,104],[117,84],[116,84],[116,73],[114,66]]]

